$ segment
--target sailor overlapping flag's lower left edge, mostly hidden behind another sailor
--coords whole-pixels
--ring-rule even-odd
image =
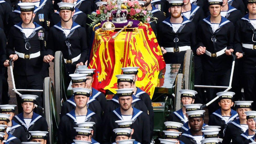
[[[92,83],[93,83],[93,80],[94,80],[94,78],[93,78],[94,71],[95,71],[95,69],[86,69],[86,68],[80,69],[79,67],[77,69],[78,73],[88,74],[86,76],[86,88],[92,90],[90,96],[92,98],[98,100],[98,102],[100,103],[100,106],[102,108],[102,111],[104,111],[104,108],[105,108],[106,103],[107,103],[107,99],[106,99],[106,97],[103,93],[99,92],[98,90],[96,90],[95,88],[92,87]]]

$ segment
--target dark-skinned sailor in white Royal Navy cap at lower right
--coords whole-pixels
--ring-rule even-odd
[[[200,143],[200,141],[204,137],[204,133],[202,132],[202,126],[204,123],[204,112],[205,110],[186,112],[189,119],[188,122],[191,128],[180,136],[180,141],[190,144]]]

